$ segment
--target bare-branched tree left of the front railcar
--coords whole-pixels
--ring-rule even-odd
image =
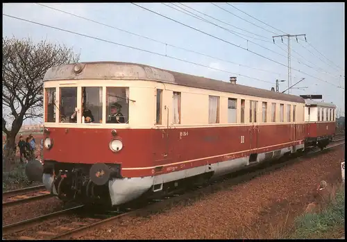
[[[47,69],[60,64],[78,62],[79,54],[71,48],[43,40],[3,38],[2,128],[6,134],[6,164],[15,160],[15,137],[26,119],[43,116],[43,83]],[[8,110],[8,114],[5,114]],[[6,122],[12,122],[10,129]]]

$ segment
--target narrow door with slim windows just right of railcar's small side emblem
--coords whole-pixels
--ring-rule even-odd
[[[250,157],[249,162],[257,161],[257,148],[258,148],[258,127],[257,127],[257,101],[250,101],[249,109],[249,122],[251,123],[250,129]]]

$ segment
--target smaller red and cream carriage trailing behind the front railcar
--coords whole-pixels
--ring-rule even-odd
[[[335,109],[332,103],[305,99],[305,146],[319,146],[323,149],[329,144],[335,135]]]

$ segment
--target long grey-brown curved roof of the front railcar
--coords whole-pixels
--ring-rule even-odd
[[[128,62],[81,62],[82,71],[79,74],[74,73],[76,63],[65,64],[58,67],[52,67],[44,75],[46,80],[71,80],[71,79],[139,79],[155,80],[164,83],[184,85],[187,87],[197,87],[211,89],[219,92],[230,92],[248,96],[257,96],[262,98],[271,98],[281,101],[290,101],[296,103],[305,103],[301,96],[282,94],[270,90],[248,87],[245,85],[231,84],[230,82],[204,78],[201,76],[192,76],[176,71],[169,71],[144,64]]]

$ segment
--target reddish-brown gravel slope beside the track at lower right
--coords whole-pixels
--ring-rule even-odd
[[[312,202],[321,180],[341,178],[344,146],[151,218],[105,225],[75,239],[273,239]]]

